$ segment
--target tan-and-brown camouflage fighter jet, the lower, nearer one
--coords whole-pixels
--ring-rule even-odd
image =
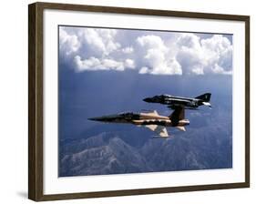
[[[181,131],[186,131],[185,126],[189,125],[189,120],[184,118],[184,107],[177,107],[169,117],[160,116],[154,110],[148,113],[125,112],[88,119],[106,123],[128,123],[138,127],[144,126],[158,134],[153,138],[169,138],[167,127],[175,127]]]

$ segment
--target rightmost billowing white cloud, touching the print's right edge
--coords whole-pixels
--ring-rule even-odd
[[[232,46],[227,37],[200,39],[194,34],[178,38],[177,58],[185,74],[231,74]]]

